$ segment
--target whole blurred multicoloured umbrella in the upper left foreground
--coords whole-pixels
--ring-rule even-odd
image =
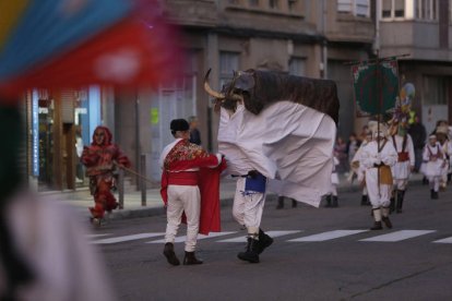
[[[152,0],[0,2],[0,96],[87,84],[152,85],[181,65]]]

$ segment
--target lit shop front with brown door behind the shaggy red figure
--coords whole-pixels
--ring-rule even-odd
[[[100,124],[100,88],[34,89],[26,98],[31,185],[38,191],[86,186],[80,157]]]

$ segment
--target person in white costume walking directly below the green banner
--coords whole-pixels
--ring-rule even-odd
[[[392,143],[388,143],[382,131],[374,132],[373,141],[369,142],[361,152],[366,186],[374,218],[370,230],[381,230],[383,228],[382,221],[388,228],[392,228],[389,218],[392,188],[391,167],[397,160],[397,153]]]

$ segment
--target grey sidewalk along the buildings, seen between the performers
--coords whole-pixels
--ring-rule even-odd
[[[409,180],[409,184],[420,184],[423,174],[414,173]],[[353,184],[346,180],[344,174],[340,174],[338,193],[341,192],[354,192],[360,188],[355,181]],[[236,181],[233,179],[225,179],[221,182],[221,194],[219,198],[222,206],[231,204],[234,194],[236,191]],[[53,198],[61,200],[64,203],[73,205],[80,210],[86,218],[90,217],[88,207],[94,205],[93,196],[90,194],[87,188],[80,190],[71,190],[63,192],[46,193],[51,195]],[[271,195],[271,194],[270,194]],[[115,194],[118,198],[118,194]],[[134,217],[146,217],[163,215],[165,209],[163,207],[163,201],[160,197],[159,189],[146,190],[146,206],[142,206],[141,191],[127,191],[124,192],[124,205],[123,209],[114,210],[109,219],[124,219]]]

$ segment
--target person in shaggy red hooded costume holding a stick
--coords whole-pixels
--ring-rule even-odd
[[[95,206],[90,207],[94,224],[100,224],[106,210],[110,213],[118,207],[118,202],[111,193],[111,188],[115,186],[116,166],[130,167],[131,165],[122,150],[111,143],[111,137],[108,128],[97,127],[91,146],[84,147],[81,158],[86,166],[91,194],[94,196]]]

